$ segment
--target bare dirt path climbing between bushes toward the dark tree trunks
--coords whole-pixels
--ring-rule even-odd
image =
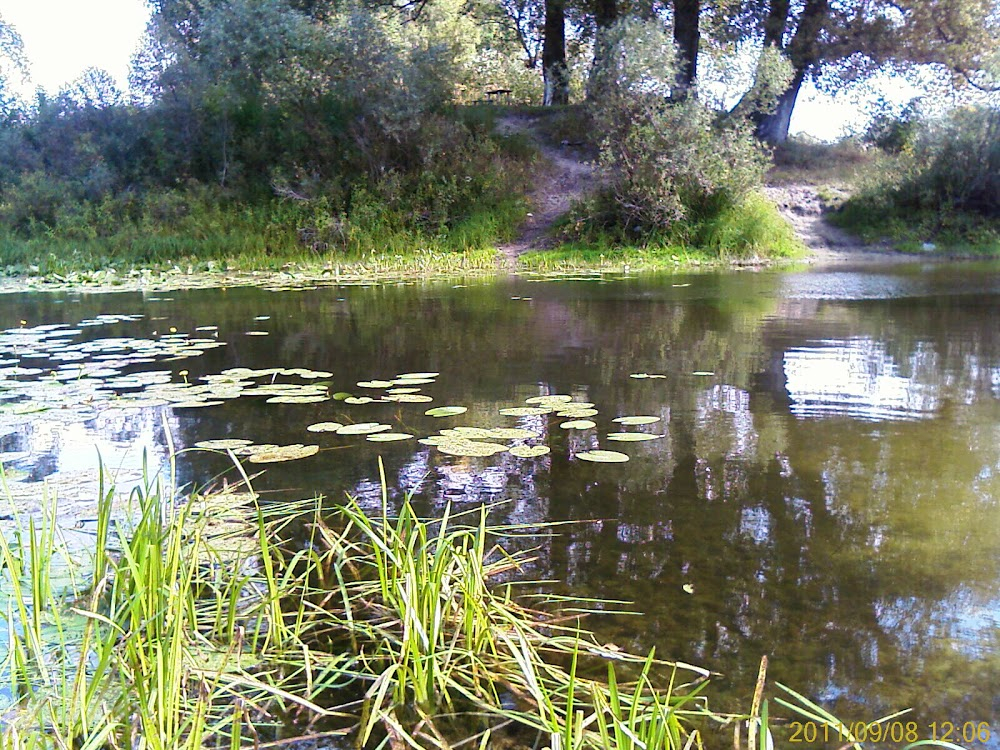
[[[502,135],[524,133],[535,143],[544,162],[542,171],[535,178],[528,194],[531,212],[521,225],[517,239],[501,245],[503,262],[508,271],[517,265],[517,257],[528,250],[545,247],[547,234],[560,216],[569,211],[575,201],[590,192],[597,181],[597,168],[593,161],[576,146],[565,144],[551,146],[535,129],[536,118],[530,115],[506,115],[497,122],[497,132]]]

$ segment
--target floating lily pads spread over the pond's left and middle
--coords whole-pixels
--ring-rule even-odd
[[[43,412],[48,413],[47,418],[81,421],[111,407],[204,408],[247,396],[264,397],[267,403],[273,404],[312,404],[336,400],[351,406],[427,404],[434,400],[423,393],[422,388],[436,381],[437,372],[409,372],[384,380],[363,380],[355,384],[358,390],[354,393],[331,393],[328,381],[333,373],[300,367],[233,367],[203,375],[194,382],[188,380],[186,370],[178,373],[183,378],[182,382],[176,380],[177,376],[170,369],[135,371],[135,365],[176,362],[224,346],[224,342],[217,339],[218,329],[215,326],[200,326],[194,336],[171,328],[162,335],[153,332],[149,338],[79,340],[87,328],[131,323],[142,318],[141,315],[98,315],[80,321],[76,326],[22,325],[0,332],[0,425],[4,421],[23,420],[26,415]],[[198,334],[203,337],[198,337]],[[641,374],[632,377],[662,376]],[[299,382],[287,382],[288,378]],[[371,395],[360,395],[362,391],[371,392]],[[466,411],[464,406],[437,406],[427,409],[424,414],[448,418]],[[583,431],[596,428],[592,417],[598,412],[593,403],[573,401],[568,395],[545,395],[529,398],[523,406],[500,409],[499,413],[517,418],[554,414],[563,419],[559,423],[561,428]],[[645,425],[659,421],[659,417],[619,417],[615,421],[623,426]],[[363,435],[372,443],[416,437],[408,432],[394,431],[392,425],[370,421],[317,422],[307,429],[313,433]],[[658,437],[662,436],[647,432],[612,432],[606,436],[612,442],[635,442]],[[542,438],[539,431],[524,426],[462,425],[421,437],[418,442],[454,456],[488,457],[509,453],[518,458],[536,458],[550,451],[547,445],[539,442]],[[250,463],[289,461],[315,455],[320,450],[315,444],[254,444],[242,438],[205,440],[196,446],[231,450],[245,456]],[[601,449],[581,451],[576,453],[576,457],[595,462],[628,460],[624,453]]]

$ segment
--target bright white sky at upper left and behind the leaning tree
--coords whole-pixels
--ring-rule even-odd
[[[0,0],[0,16],[24,41],[31,80],[14,88],[31,98],[37,86],[54,94],[88,67],[104,68],[128,88],[129,61],[149,19],[143,0]],[[890,94],[905,96],[906,91]],[[898,98],[898,97],[897,97]],[[856,122],[862,105],[849,95],[831,98],[808,84],[799,95],[791,132],[833,140]]]

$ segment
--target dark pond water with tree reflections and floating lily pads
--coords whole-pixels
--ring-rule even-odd
[[[772,679],[845,721],[913,707],[922,738],[989,722],[1000,747],[998,321],[996,265],[5,295],[0,458],[17,504],[35,507],[44,480],[85,533],[98,451],[127,489],[144,452],[164,465],[168,432],[177,450],[319,447],[248,463],[264,498],[377,504],[381,457],[393,502],[414,493],[426,514],[506,501],[510,521],[592,521],[545,540],[532,573],[635,602],[641,618],[591,626],[721,672],[731,707],[767,654]],[[385,382],[404,373],[430,375]],[[392,390],[433,401],[381,402]],[[336,392],[378,400],[268,400]],[[499,413],[547,394],[596,414]],[[467,411],[425,415],[446,405]],[[612,421],[636,415],[659,419]],[[594,427],[561,426],[574,417]],[[306,429],[324,421],[414,439]],[[551,450],[415,439],[456,426],[525,428],[492,442]],[[629,460],[581,460],[594,449]],[[236,479],[207,452],[178,473]]]

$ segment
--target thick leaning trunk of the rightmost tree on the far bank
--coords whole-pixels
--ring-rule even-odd
[[[777,36],[777,23],[775,23],[778,15],[775,11],[777,9],[781,12],[781,6],[784,6],[783,12],[787,14],[787,0],[772,1],[768,23],[773,24],[773,26],[765,29],[765,33],[776,41],[780,41],[781,36],[783,36],[783,34]],[[798,28],[795,30],[795,36],[792,37],[786,50],[795,69],[795,75],[788,88],[778,97],[774,111],[755,118],[757,120],[757,137],[761,140],[772,144],[784,143],[788,140],[788,125],[792,119],[792,110],[795,109],[795,100],[798,98],[799,89],[802,88],[806,73],[823,56],[820,49],[820,36],[829,15],[830,0],[806,0]]]

